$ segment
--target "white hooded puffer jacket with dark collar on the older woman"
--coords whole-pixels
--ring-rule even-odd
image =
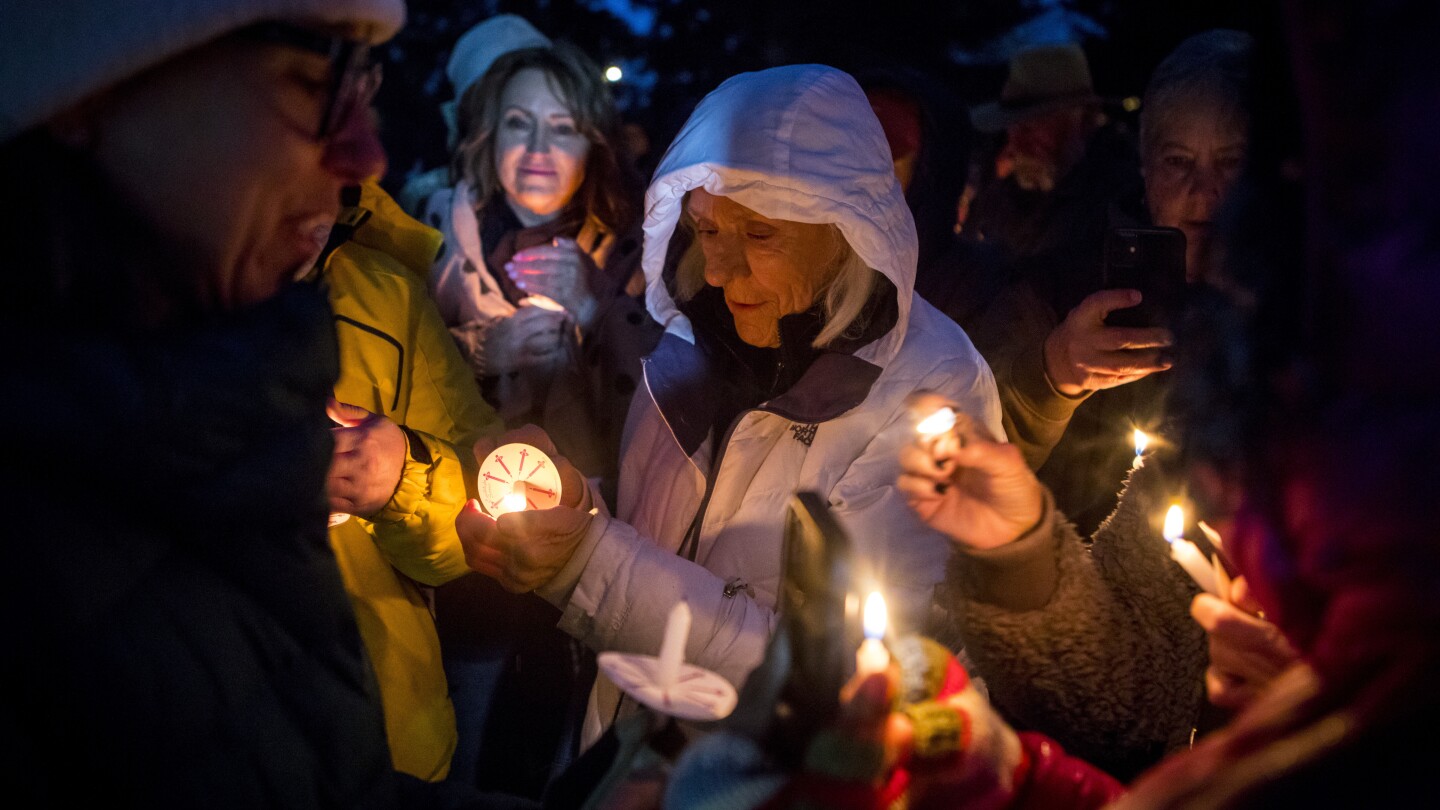
[[[720,448],[723,437],[693,438],[703,419],[684,405],[704,395],[704,360],[661,280],[684,196],[700,187],[772,219],[837,223],[899,294],[888,333],[852,355],[822,355],[791,391],[742,412]],[[932,389],[994,435],[1004,430],[989,366],[913,294],[914,222],[860,85],[819,65],[726,81],[665,153],[645,206],[647,304],[667,333],[631,405],[619,519],[596,517],[541,591],[562,608],[560,627],[596,650],[654,654],[684,598],[694,615],[685,659],[742,685],[775,627],[785,510],[798,490],[827,497],[894,627],[919,627],[950,549],[896,487],[900,448],[914,437],[906,398]],[[701,507],[691,561],[677,552]],[[615,719],[618,700],[602,676],[586,745]]]

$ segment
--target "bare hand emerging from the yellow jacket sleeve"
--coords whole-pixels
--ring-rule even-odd
[[[340,425],[330,431],[336,440],[325,480],[330,510],[369,517],[390,503],[400,486],[405,432],[380,414],[334,398],[325,414]]]

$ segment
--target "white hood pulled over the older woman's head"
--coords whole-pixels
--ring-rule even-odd
[[[854,78],[824,65],[733,76],[700,101],[665,151],[645,193],[645,303],[668,331],[691,343],[690,321],[661,271],[693,189],[770,219],[838,225],[899,295],[896,326],[855,356],[884,366],[900,349],[914,290],[914,219],[880,121]]]

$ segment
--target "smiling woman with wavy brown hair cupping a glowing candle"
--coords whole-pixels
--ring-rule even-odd
[[[539,36],[539,35],[537,35]],[[498,56],[459,98],[431,291],[485,399],[612,490],[639,357],[639,182],[599,68],[564,42]]]

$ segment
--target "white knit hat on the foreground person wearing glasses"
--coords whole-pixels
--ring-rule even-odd
[[[359,23],[384,42],[405,0],[4,0],[0,143],[192,48],[261,20]]]

